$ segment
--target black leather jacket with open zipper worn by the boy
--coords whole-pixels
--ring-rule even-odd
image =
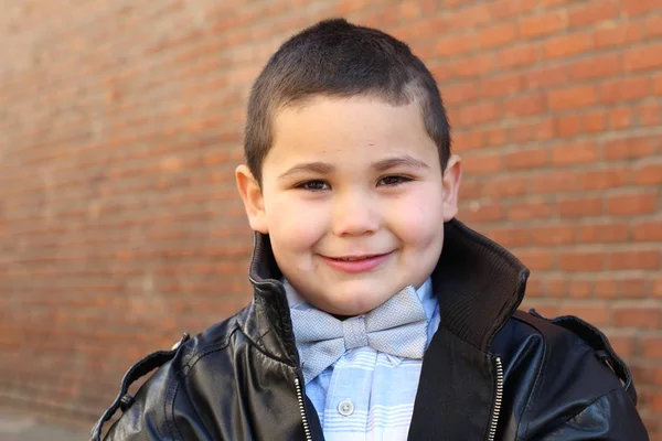
[[[595,327],[516,312],[528,271],[452,220],[433,287],[441,321],[425,354],[410,440],[648,440],[627,366]],[[125,377],[106,440],[323,440],[306,398],[285,290],[257,234],[253,302]],[[127,388],[159,367],[136,397]]]

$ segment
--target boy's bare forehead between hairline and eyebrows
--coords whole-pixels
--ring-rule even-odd
[[[366,96],[314,97],[279,110],[273,121],[274,142],[265,168],[311,159],[361,162],[403,153],[426,162],[438,158],[415,100],[393,106]]]

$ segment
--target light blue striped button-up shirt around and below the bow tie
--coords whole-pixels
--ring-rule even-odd
[[[314,308],[289,283],[285,284],[291,309]],[[429,345],[439,326],[439,306],[431,280],[416,293],[427,315]],[[306,395],[320,417],[324,439],[406,440],[421,364],[420,359],[401,358],[367,346],[346,351],[306,385]]]

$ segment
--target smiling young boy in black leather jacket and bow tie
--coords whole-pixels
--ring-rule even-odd
[[[253,302],[134,366],[94,440],[118,407],[107,440],[648,439],[605,336],[516,312],[526,268],[453,219],[460,160],[404,43],[344,20],[291,37],[245,151]]]

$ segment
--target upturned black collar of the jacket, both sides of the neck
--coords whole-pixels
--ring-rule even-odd
[[[492,337],[524,297],[528,269],[500,245],[452,219],[431,275],[441,327],[489,352]],[[298,366],[289,305],[268,235],[255,233],[249,279],[254,301],[244,331],[265,351]],[[274,331],[274,332],[271,332]]]

